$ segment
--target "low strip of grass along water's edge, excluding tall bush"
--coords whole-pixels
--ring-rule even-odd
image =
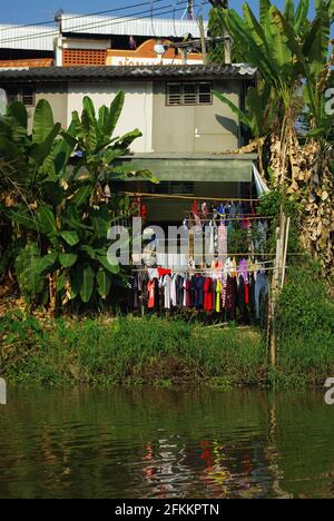
[[[333,350],[285,345],[277,368],[256,328],[164,318],[0,318],[1,375],[16,385],[323,385]]]

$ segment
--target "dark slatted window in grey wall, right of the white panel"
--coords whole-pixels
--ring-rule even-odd
[[[197,83],[167,83],[167,105],[212,105],[213,83],[200,81]]]

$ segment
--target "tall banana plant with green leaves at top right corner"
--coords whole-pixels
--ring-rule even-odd
[[[244,4],[244,18],[234,9],[219,11],[219,19],[213,16],[216,32],[227,28],[242,60],[257,67],[263,82],[259,88],[250,87],[247,96],[247,111],[240,114],[238,107],[220,96],[240,121],[247,125],[258,138],[272,130],[273,121],[281,126],[294,126],[293,99],[304,83],[304,104],[310,112],[312,134],[323,138],[328,135],[331,121],[324,111],[325,89],[330,76],[330,20],[333,8],[327,0],[316,1],[316,13],[308,21],[308,0],[294,3],[286,0],[282,12],[269,0],[259,3],[259,19]]]

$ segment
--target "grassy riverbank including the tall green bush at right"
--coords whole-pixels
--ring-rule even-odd
[[[18,385],[323,386],[334,376],[334,304],[320,268],[291,266],[276,313],[277,366],[264,332],[181,318],[0,316],[1,375]]]

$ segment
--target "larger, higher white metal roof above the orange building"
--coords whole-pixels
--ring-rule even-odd
[[[150,36],[181,38],[191,33],[199,38],[199,28],[196,20],[178,20],[151,18],[110,18],[110,17],[78,17],[75,14],[61,16],[61,29],[65,33],[78,32],[82,35],[119,35],[119,36]],[[205,22],[207,29],[207,22]]]

